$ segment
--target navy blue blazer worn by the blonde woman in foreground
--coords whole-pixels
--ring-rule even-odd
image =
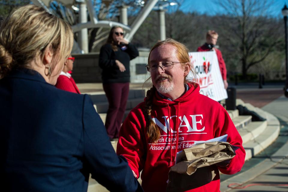
[[[57,89],[38,72],[21,69],[0,80],[0,102],[4,191],[86,192],[89,173],[110,191],[139,187],[88,95]]]

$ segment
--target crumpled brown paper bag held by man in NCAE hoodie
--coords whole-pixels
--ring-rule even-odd
[[[215,164],[235,156],[228,142],[202,143],[181,153],[184,153],[183,161],[170,168],[166,191],[185,191],[211,182],[218,172]]]

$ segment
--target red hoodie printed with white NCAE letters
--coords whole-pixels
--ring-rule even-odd
[[[143,170],[141,178],[144,191],[165,191],[169,169],[175,164],[176,152],[191,147],[195,141],[228,134],[227,142],[239,148],[229,165],[218,169],[225,174],[234,174],[240,171],[244,164],[242,139],[227,111],[218,102],[201,95],[198,84],[196,87],[192,84],[188,86],[189,90],[174,101],[162,98],[156,91],[151,117],[161,133],[157,144],[149,142],[146,137],[144,102],[130,112],[120,129],[117,154],[128,160],[137,177]],[[169,124],[171,131],[167,129]],[[211,192],[219,189],[218,172],[210,183],[189,191]]]

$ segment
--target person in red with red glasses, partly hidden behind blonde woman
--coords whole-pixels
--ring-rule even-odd
[[[71,77],[74,61],[75,58],[69,55],[64,63],[64,68],[57,79],[55,87],[72,93],[80,93],[74,79]]]

